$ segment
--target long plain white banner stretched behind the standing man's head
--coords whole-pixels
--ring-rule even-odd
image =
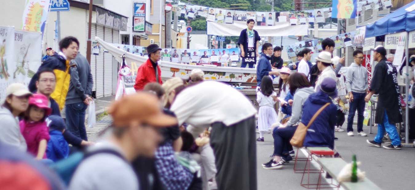
[[[247,28],[246,22],[235,21],[234,24],[207,22],[207,35],[239,36]],[[275,26],[254,26],[259,36],[305,36],[308,35],[308,25],[290,26],[287,22],[278,22]]]

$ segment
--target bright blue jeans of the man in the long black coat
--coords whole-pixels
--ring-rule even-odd
[[[398,135],[398,130],[396,130],[396,126],[394,124],[389,123],[388,114],[386,114],[386,110],[384,111],[383,115],[383,123],[378,123],[378,134],[376,135],[374,141],[377,143],[382,142],[383,134],[386,132],[389,134],[391,138],[392,145],[398,146],[400,144],[400,138]]]

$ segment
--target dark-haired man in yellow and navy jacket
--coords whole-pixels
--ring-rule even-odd
[[[48,60],[40,65],[39,70],[45,67],[51,68],[56,75],[56,88],[51,94],[51,97],[58,103],[59,109],[62,110],[65,106],[66,94],[68,94],[69,82],[71,75],[69,67],[76,67],[76,64],[71,63],[75,59],[79,50],[79,41],[73,36],[67,36],[59,42],[58,54],[49,57]],[[36,81],[39,78],[39,70],[33,76],[29,83],[29,90],[37,91]]]

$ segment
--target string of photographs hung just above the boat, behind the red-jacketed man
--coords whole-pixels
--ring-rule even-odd
[[[129,53],[146,56],[146,47],[125,44],[112,44]],[[190,65],[212,64],[217,66],[236,66],[240,59],[239,48],[230,49],[162,49],[161,60],[173,63],[184,63]]]

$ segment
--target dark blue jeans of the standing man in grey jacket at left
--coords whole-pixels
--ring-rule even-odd
[[[72,103],[66,105],[66,128],[73,135],[88,141],[85,130],[85,111],[88,108],[85,103]]]

